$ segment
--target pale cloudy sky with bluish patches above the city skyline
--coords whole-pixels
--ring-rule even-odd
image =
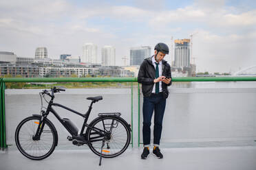
[[[104,45],[116,47],[122,66],[130,47],[171,47],[171,37],[191,34],[197,71],[256,65],[256,1],[0,1],[0,51],[21,57],[34,57],[36,47],[47,47],[50,58],[81,56],[83,44],[93,42],[98,60]]]

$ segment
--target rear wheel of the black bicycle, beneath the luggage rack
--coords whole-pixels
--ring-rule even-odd
[[[118,117],[98,117],[89,124],[89,127],[103,130],[104,132],[111,132],[111,138],[105,141],[105,146],[103,147],[102,156],[104,158],[119,156],[129,146],[131,132],[127,124]],[[94,154],[100,156],[104,136],[89,127],[87,128],[89,148]]]

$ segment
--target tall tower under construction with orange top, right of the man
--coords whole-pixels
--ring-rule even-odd
[[[190,67],[190,39],[174,40],[174,65],[178,68]]]

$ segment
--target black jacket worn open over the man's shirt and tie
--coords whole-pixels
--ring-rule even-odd
[[[162,60],[162,75],[171,78],[171,66],[165,60]],[[142,84],[142,93],[145,97],[151,95],[154,85],[153,80],[155,78],[156,69],[152,63],[152,57],[146,58],[140,65],[140,71],[138,73],[138,82]],[[162,95],[165,99],[169,95],[167,86],[170,86],[171,82],[169,84],[162,82]]]

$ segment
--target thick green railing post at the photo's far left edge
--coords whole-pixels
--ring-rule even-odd
[[[6,148],[6,115],[5,115],[5,90],[6,83],[3,82],[1,78],[1,87],[0,87],[0,147]]]

